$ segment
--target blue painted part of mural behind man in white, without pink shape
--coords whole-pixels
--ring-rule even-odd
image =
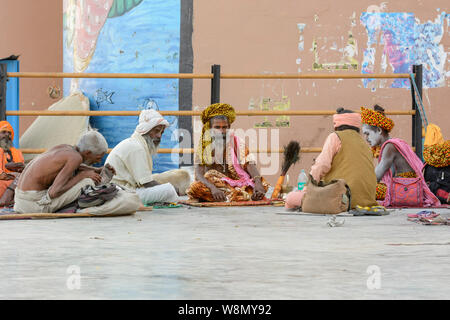
[[[126,14],[106,20],[85,72],[178,73],[179,54],[180,1],[144,0]],[[65,46],[64,71],[72,70],[72,53]],[[80,79],[79,86],[91,110],[178,110],[178,79]],[[69,91],[70,79],[64,82],[65,95]],[[171,140],[177,119],[166,119],[172,125],[160,146],[177,148],[178,141]],[[112,148],[133,133],[138,117],[91,117],[90,122]],[[158,154],[154,170],[178,168],[178,162],[178,155]]]

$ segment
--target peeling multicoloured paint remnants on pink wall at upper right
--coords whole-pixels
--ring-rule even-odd
[[[350,16],[350,25],[345,36],[330,36],[319,24],[315,15],[309,32],[314,32],[309,52],[313,55],[312,70],[354,71],[361,66],[361,73],[411,73],[412,65],[423,65],[423,87],[436,88],[446,86],[450,78],[448,70],[450,54],[442,44],[443,37],[449,34],[450,14],[436,9],[437,16],[431,21],[421,23],[414,13],[384,12],[386,5],[370,6],[368,12],[360,15],[359,23],[367,34],[362,59],[358,59],[358,45],[353,27],[356,25],[355,12]],[[347,25],[347,24],[345,24]],[[297,23],[299,34],[297,72],[302,72],[304,55],[305,23]],[[327,26],[329,27],[329,26]],[[345,28],[344,28],[345,29]],[[338,39],[339,38],[339,39]],[[346,44],[344,45],[344,42]],[[339,45],[339,43],[343,45]],[[324,56],[339,52],[339,61],[324,61]],[[328,58],[329,59],[329,58]],[[335,59],[337,60],[337,59]],[[361,61],[359,61],[361,60]],[[377,88],[409,88],[408,79],[363,79],[365,88],[375,91]]]

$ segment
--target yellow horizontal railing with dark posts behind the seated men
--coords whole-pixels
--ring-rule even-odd
[[[140,111],[80,111],[80,110],[19,110],[7,111],[4,92],[6,91],[6,79],[13,78],[117,78],[117,79],[210,79],[211,80],[211,103],[220,101],[220,80],[221,79],[397,79],[407,78],[415,81],[415,86],[411,85],[412,108],[411,110],[393,110],[386,112],[388,115],[412,116],[412,145],[416,154],[422,158],[422,120],[420,110],[415,99],[414,87],[422,95],[422,65],[414,65],[414,79],[407,73],[396,74],[221,74],[220,65],[213,65],[210,74],[192,73],[63,73],[63,72],[6,72],[6,65],[0,65],[0,120],[5,120],[6,116],[138,116]],[[3,91],[2,91],[3,90]],[[3,95],[2,95],[3,92]],[[163,116],[200,116],[200,111],[160,111]],[[334,110],[285,110],[285,111],[240,111],[238,116],[331,116]],[[42,153],[45,149],[21,149],[23,153]],[[252,151],[252,150],[251,150]],[[301,152],[316,153],[321,148],[305,147]],[[159,153],[193,153],[193,148],[173,148],[159,149]],[[253,150],[253,152],[283,152],[279,150]]]

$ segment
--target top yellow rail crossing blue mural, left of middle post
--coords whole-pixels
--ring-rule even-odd
[[[10,78],[117,78],[117,79],[212,79],[212,74],[194,73],[69,73],[8,72]]]

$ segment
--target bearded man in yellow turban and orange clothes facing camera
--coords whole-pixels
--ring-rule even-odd
[[[187,194],[200,201],[248,201],[264,198],[269,185],[245,143],[230,133],[232,106],[216,103],[202,112],[202,136],[195,154],[195,179]]]

